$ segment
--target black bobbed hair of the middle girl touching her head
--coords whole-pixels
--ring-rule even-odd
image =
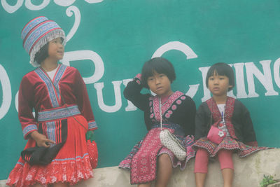
[[[153,76],[155,71],[158,74],[165,74],[171,83],[176,79],[172,63],[163,57],[155,57],[145,62],[142,68],[142,83],[145,88],[148,88],[148,77]]]

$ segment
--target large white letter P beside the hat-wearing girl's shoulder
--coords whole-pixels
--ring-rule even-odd
[[[70,61],[91,60],[94,63],[95,71],[90,77],[83,78],[86,84],[95,83],[102,78],[104,74],[104,64],[102,58],[92,50],[76,50],[64,53],[62,64],[70,66]]]

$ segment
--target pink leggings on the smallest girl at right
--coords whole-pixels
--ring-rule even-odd
[[[208,172],[208,160],[209,154],[206,149],[198,148],[195,156],[195,173]],[[234,169],[232,162],[232,151],[222,149],[218,151],[218,160],[220,162],[221,169]]]

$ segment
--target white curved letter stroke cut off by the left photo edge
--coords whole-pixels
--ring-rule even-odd
[[[10,88],[10,80],[6,70],[0,64],[0,82],[3,91],[3,100],[0,107],[0,120],[3,118],[8,109],[10,109],[10,103],[12,102],[12,89]]]

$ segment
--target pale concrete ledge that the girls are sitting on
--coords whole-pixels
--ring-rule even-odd
[[[272,175],[274,179],[280,179],[280,149],[271,149],[259,151],[246,158],[238,158],[233,155],[235,164],[234,187],[260,186],[263,175]],[[192,159],[188,163],[185,170],[179,168],[174,169],[169,187],[174,186],[195,186],[195,174],[193,174],[195,160]],[[1,181],[0,186],[5,181]],[[83,181],[76,185],[78,187],[94,186],[94,187],[126,187],[137,186],[130,185],[130,172],[118,167],[104,167],[94,169],[94,178]],[[223,186],[223,177],[221,174],[218,160],[209,162],[209,174],[207,176],[205,187],[221,187]]]

